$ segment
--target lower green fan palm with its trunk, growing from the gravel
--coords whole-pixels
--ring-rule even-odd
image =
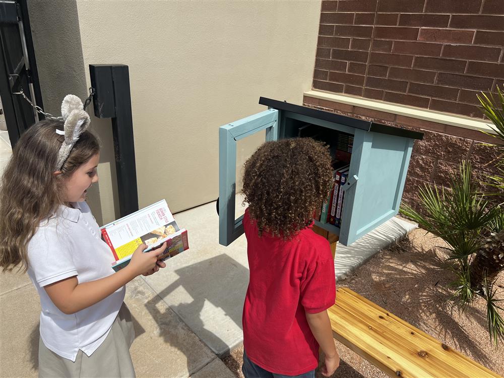
[[[443,248],[448,252],[448,260],[454,262],[455,301],[464,310],[476,295],[486,300],[488,332],[490,340],[497,345],[499,340],[504,342],[504,319],[499,312],[502,310],[497,299],[500,293],[490,279],[495,279],[504,267],[494,263],[493,253],[483,251],[485,243],[488,244],[487,231],[502,227],[504,220],[502,209],[492,206],[474,186],[471,164],[463,162],[459,174],[451,177],[448,188],[427,184],[420,188],[423,214],[405,204],[401,213],[448,243]]]

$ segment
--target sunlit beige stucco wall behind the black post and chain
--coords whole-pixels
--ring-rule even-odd
[[[215,200],[219,126],[265,110],[260,96],[301,104],[311,88],[320,1],[82,0],[77,9],[88,86],[89,64],[130,68],[140,207]],[[93,123],[106,222],[118,215],[110,123]],[[262,138],[240,143],[238,160]]]

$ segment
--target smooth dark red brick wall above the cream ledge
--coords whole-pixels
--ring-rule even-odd
[[[482,117],[503,45],[504,0],[323,1],[313,88]]]

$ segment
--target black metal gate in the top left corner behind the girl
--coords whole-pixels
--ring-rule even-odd
[[[20,94],[42,107],[26,0],[0,0],[0,43],[0,97],[14,147],[21,134],[43,118]]]

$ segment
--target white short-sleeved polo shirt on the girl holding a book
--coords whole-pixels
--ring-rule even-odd
[[[79,349],[90,356],[105,340],[124,299],[121,287],[74,314],[61,312],[44,286],[77,276],[79,283],[114,273],[114,257],[86,202],[60,206],[43,220],[28,243],[28,275],[40,295],[40,337],[61,357],[75,361]]]

